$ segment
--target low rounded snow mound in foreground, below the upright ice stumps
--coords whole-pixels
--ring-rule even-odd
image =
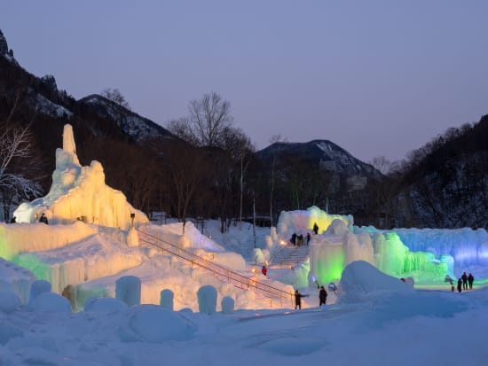
[[[178,313],[157,305],[138,305],[130,310],[122,341],[164,342],[192,339],[193,324]]]

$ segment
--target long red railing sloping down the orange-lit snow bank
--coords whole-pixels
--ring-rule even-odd
[[[271,305],[273,300],[279,300],[279,303],[282,306],[282,300],[293,299],[292,293],[280,290],[279,288],[276,288],[270,284],[264,284],[258,281],[255,276],[248,277],[240,275],[239,273],[234,272],[221,264],[202,258],[201,256],[180,248],[178,245],[169,243],[162,238],[158,238],[139,229],[137,229],[137,231],[140,242],[157,247],[161,249],[162,253],[174,255],[177,258],[188,262],[192,266],[207,269],[212,272],[216,279],[220,281],[227,281],[228,283],[234,284],[236,287],[243,290],[255,290],[257,292],[261,292],[264,294],[264,296],[270,299]]]

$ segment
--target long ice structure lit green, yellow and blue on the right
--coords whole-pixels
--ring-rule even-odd
[[[476,279],[486,276],[488,234],[483,229],[358,228],[350,215],[330,215],[312,206],[281,213],[278,236],[283,240],[294,232],[305,236],[314,222],[319,235],[312,235],[309,248],[311,285],[341,279],[342,270],[352,261],[367,261],[390,276],[412,276],[415,284],[441,284],[445,275],[458,278],[463,271],[472,272]]]

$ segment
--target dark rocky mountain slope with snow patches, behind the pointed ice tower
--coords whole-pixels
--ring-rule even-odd
[[[138,144],[148,138],[161,138],[161,141],[177,139],[166,128],[106,97],[92,94],[75,100],[67,91],[58,89],[54,76],[37,77],[28,73],[13,58],[13,52],[9,51],[0,31],[0,115],[8,115],[16,99],[22,104],[22,112],[19,113],[32,122],[33,128],[39,124],[47,128],[50,123],[51,128],[56,127],[52,134],[56,138],[60,136],[56,132],[69,121],[76,129],[76,136],[82,139],[86,134],[122,138]]]

